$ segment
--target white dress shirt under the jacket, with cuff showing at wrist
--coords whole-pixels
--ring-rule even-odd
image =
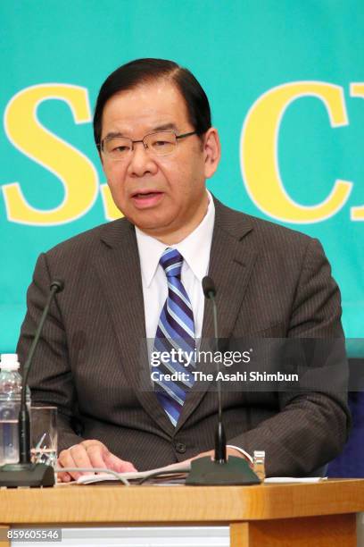
[[[161,310],[168,297],[167,277],[160,265],[161,255],[166,248],[176,248],[184,261],[181,270],[181,282],[185,287],[194,312],[194,337],[201,339],[203,331],[203,277],[209,272],[210,251],[213,226],[215,223],[215,206],[208,191],[209,205],[202,222],[187,237],[175,245],[166,245],[147,235],[136,227],[136,242],[142,271],[143,298],[145,307],[146,338],[153,346]],[[252,461],[245,450],[232,445]]]

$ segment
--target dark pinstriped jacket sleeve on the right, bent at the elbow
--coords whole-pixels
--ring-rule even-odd
[[[343,341],[340,293],[318,240],[303,259],[287,338]],[[251,454],[265,450],[267,475],[307,475],[335,458],[350,429],[344,342],[339,359],[343,374],[327,378],[327,389],[279,392],[280,412],[228,443]]]

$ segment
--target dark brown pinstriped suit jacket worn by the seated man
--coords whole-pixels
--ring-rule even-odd
[[[221,337],[341,337],[340,294],[317,240],[216,200],[209,274]],[[213,447],[216,393],[194,383],[177,427],[150,382],[134,227],[126,219],[65,241],[37,261],[21,328],[29,349],[49,282],[64,279],[37,349],[34,401],[56,404],[60,450],[99,439],[145,469]],[[213,334],[205,309],[203,337]],[[343,392],[340,392],[343,391]],[[223,393],[227,441],[267,453],[269,475],[305,475],[340,452],[350,417],[344,386],[327,393]],[[184,449],[186,448],[186,450]]]

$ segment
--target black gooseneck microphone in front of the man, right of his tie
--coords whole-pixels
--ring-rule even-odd
[[[219,351],[218,307],[216,305],[215,283],[209,276],[203,278],[203,294],[212,303],[215,351]],[[217,360],[219,374],[219,359]],[[191,462],[191,471],[186,477],[186,484],[230,485],[260,484],[248,462],[243,458],[230,456],[227,459],[227,437],[222,421],[221,381],[218,377],[218,425],[215,433],[215,459],[203,457]]]

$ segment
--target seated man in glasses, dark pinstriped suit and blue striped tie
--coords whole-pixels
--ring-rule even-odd
[[[186,69],[155,59],[120,67],[100,90],[94,130],[126,218],[39,257],[22,359],[50,281],[62,278],[65,289],[37,349],[32,398],[59,409],[62,467],[128,471],[212,455],[216,393],[198,382],[186,392],[181,385],[145,389],[145,337],[157,343],[173,324],[191,339],[212,336],[201,289],[209,273],[222,338],[341,338],[338,288],[317,240],[237,213],[207,192],[219,136],[207,97]],[[179,266],[168,262],[176,251]],[[172,281],[170,267],[179,267]],[[228,454],[261,449],[268,475],[310,473],[346,440],[342,387],[224,392]]]

